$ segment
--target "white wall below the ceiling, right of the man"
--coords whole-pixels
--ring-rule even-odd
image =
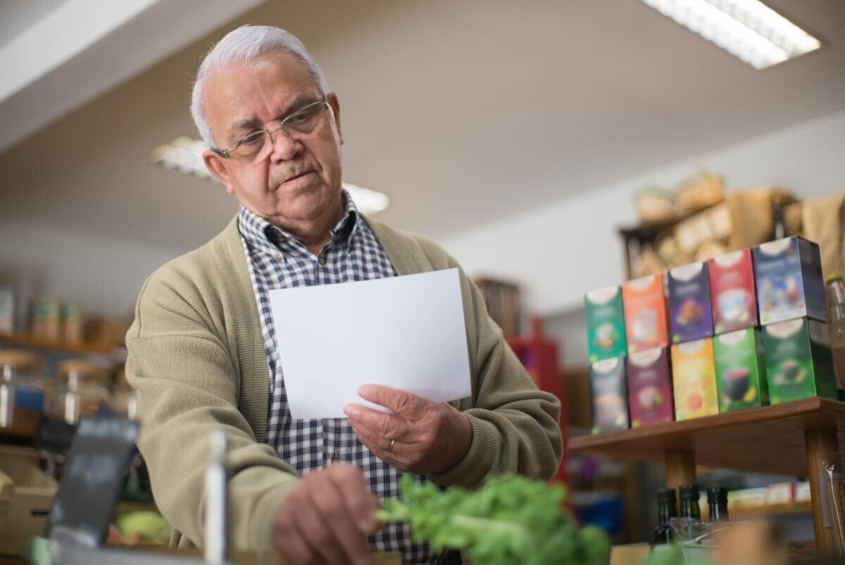
[[[702,166],[724,173],[729,189],[780,185],[802,199],[845,190],[845,112],[588,189],[440,243],[472,275],[520,282],[528,310],[570,312],[581,308],[586,291],[624,279],[615,227],[636,221],[635,189],[672,186]]]

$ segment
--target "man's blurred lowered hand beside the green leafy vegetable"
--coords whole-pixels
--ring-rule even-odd
[[[359,469],[331,464],[305,475],[287,494],[275,515],[273,542],[295,565],[365,565],[378,508]]]

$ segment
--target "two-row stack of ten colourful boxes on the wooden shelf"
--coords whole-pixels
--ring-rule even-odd
[[[806,239],[638,278],[585,302],[593,433],[837,397],[819,248]]]

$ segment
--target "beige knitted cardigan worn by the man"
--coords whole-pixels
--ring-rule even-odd
[[[400,275],[458,266],[428,239],[367,222]],[[469,417],[472,444],[433,479],[473,487],[488,474],[517,472],[548,480],[563,449],[559,402],[534,387],[463,272],[461,293],[472,397],[452,405]],[[155,502],[184,533],[179,545],[202,545],[208,437],[222,430],[232,543],[271,546],[274,515],[297,475],[264,443],[270,371],[237,217],[144,282],[126,343],[126,374],[143,421],[139,448]]]

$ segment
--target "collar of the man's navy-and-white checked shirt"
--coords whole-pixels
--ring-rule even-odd
[[[331,229],[329,243],[326,244],[327,248],[337,244],[348,246],[357,232],[359,212],[355,202],[352,201],[352,196],[346,189],[341,189],[341,197],[344,215],[341,221],[337,222],[335,227]],[[283,253],[300,255],[308,254],[305,246],[286,230],[278,228],[243,206],[238,211],[238,228],[240,228],[241,235],[247,240],[248,244],[263,250],[265,253],[275,255],[278,251],[282,251]]]

